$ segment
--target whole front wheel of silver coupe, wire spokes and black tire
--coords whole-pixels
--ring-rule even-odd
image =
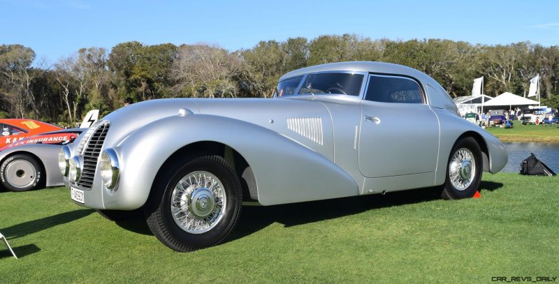
[[[242,189],[233,167],[221,156],[202,156],[184,165],[178,160],[166,165],[144,209],[155,237],[184,252],[224,241],[241,205]]]

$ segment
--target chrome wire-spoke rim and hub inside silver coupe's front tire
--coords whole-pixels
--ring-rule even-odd
[[[212,230],[225,214],[225,189],[214,174],[191,172],[177,183],[170,211],[175,223],[191,234]]]

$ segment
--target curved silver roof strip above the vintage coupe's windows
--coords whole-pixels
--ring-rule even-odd
[[[374,62],[374,61],[346,61],[336,63],[326,63],[317,66],[310,66],[300,68],[286,73],[279,80],[284,80],[289,77],[296,77],[305,75],[307,73],[327,72],[327,71],[356,71],[356,72],[372,72],[372,73],[386,73],[386,74],[399,74],[415,77],[418,80],[430,79],[424,73],[414,68],[398,65],[394,63]]]

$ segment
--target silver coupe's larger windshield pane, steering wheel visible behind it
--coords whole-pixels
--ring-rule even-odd
[[[363,75],[351,73],[324,73],[307,76],[299,94],[342,94],[359,96]]]

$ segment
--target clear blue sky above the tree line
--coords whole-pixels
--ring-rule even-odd
[[[19,43],[55,61],[81,47],[129,40],[214,43],[356,33],[559,45],[559,1],[86,1],[0,0],[0,44]]]

